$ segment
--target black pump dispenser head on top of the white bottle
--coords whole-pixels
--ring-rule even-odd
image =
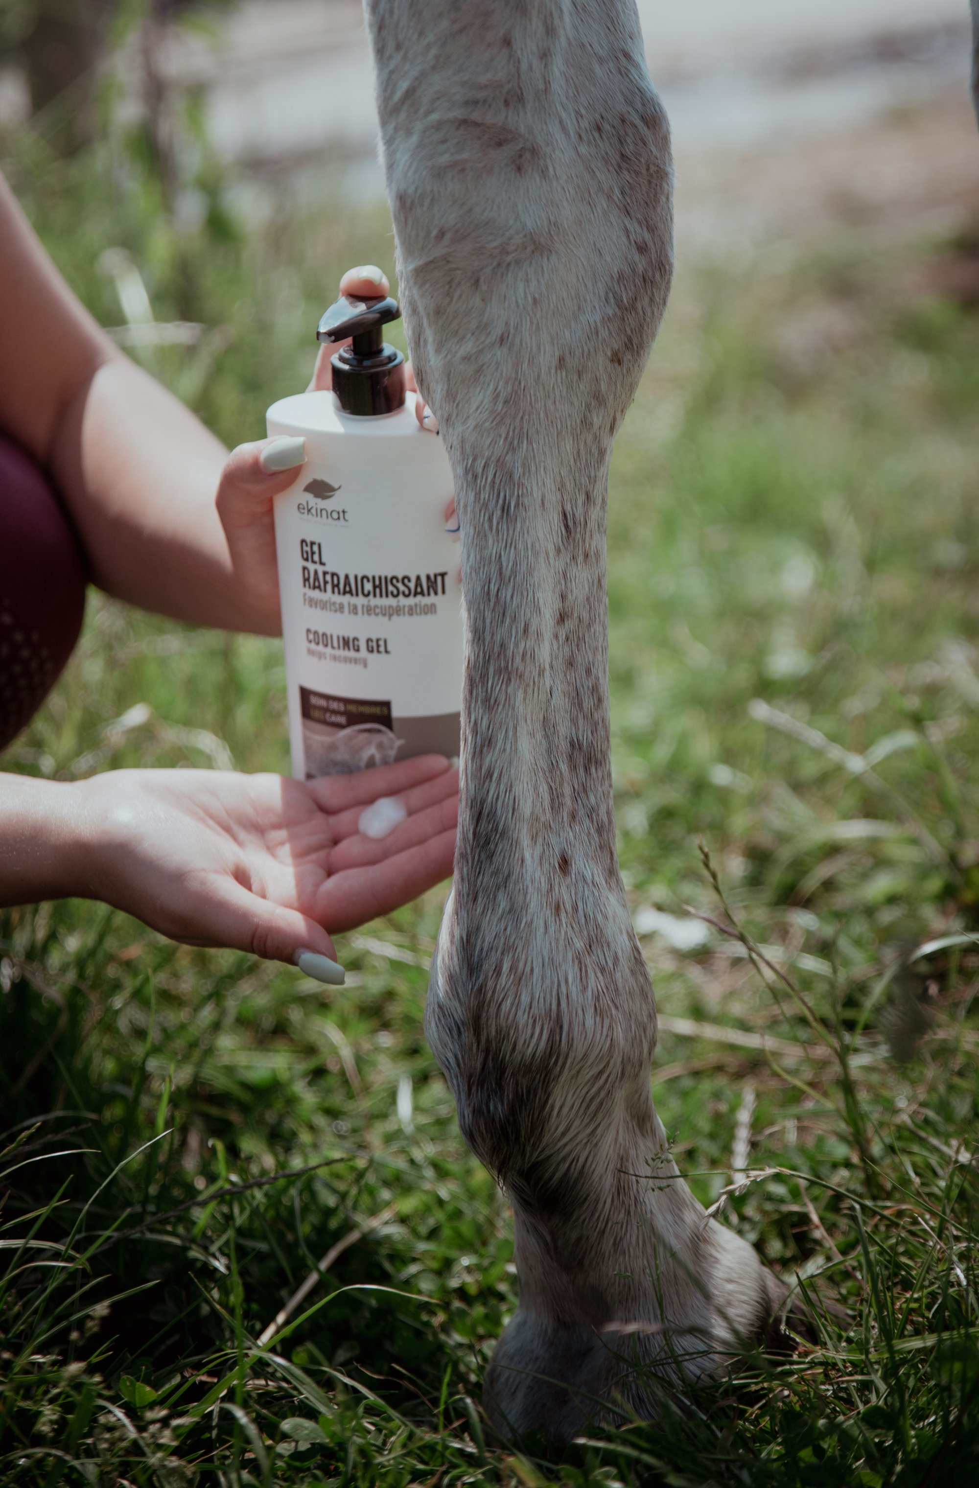
[[[405,406],[405,357],[381,338],[381,326],[399,315],[397,301],[390,295],[378,299],[341,295],[323,314],[317,341],[353,336],[350,347],[330,357],[333,391],[345,414],[370,418]]]

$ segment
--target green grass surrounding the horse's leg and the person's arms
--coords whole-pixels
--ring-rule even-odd
[[[339,269],[390,266],[373,210],[283,190],[245,232],[216,190],[180,235],[128,156],[36,150],[12,147],[15,185],[100,318],[119,311],[92,263],[121,243],[161,318],[211,327],[156,371],[229,442],[302,385]],[[976,1481],[979,323],[905,290],[940,247],[841,231],[689,266],[613,469],[626,884],[637,909],[741,927],[646,937],[655,1097],[716,1202],[753,1092],[750,1167],[778,1171],[723,1217],[806,1299],[795,1354],[664,1391],[655,1426],[594,1427],[564,1464],[494,1442],[481,1382],[516,1280],[421,1036],[442,891],[341,937],[330,992],[42,905],[0,918],[0,1481]],[[283,686],[275,643],[94,597],[0,763],[286,769]]]

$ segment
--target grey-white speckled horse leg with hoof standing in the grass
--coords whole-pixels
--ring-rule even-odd
[[[513,1204],[506,1434],[723,1369],[780,1286],[677,1176],[614,850],[606,496],[667,302],[671,158],[634,0],[367,0],[399,283],[466,595],[455,881],[426,1030]]]

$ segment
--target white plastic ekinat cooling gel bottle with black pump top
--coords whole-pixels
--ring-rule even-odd
[[[381,339],[397,302],[341,298],[317,338],[342,341],[333,391],[272,403],[269,434],[306,463],[275,498],[293,775],[458,754],[463,622],[452,473],[423,430],[405,359]]]

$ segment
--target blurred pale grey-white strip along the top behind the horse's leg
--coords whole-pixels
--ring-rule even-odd
[[[638,0],[678,155],[786,143],[961,91],[967,0]],[[183,42],[217,147],[253,162],[370,159],[359,0],[245,0],[217,46]]]

